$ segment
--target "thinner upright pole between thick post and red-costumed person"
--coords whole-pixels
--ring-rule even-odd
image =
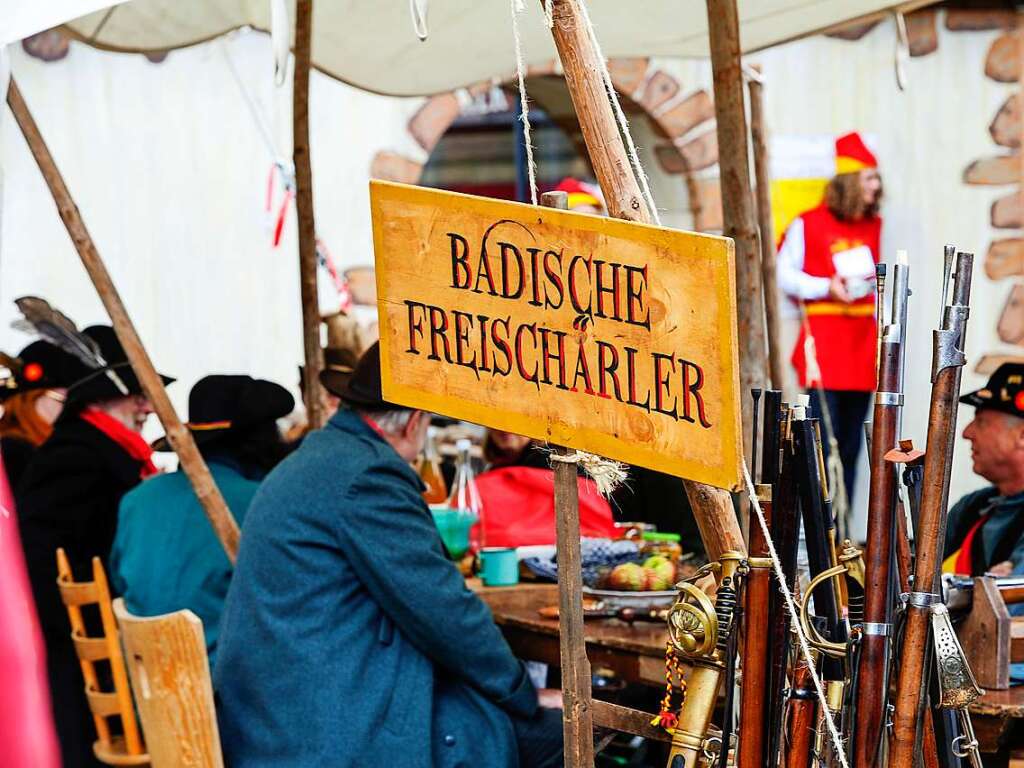
[[[778,321],[778,288],[775,283],[775,231],[771,215],[771,175],[768,173],[768,131],[765,128],[764,83],[753,67],[748,78],[751,97],[751,143],[754,147],[754,178],[757,181],[758,229],[761,236],[761,285],[765,298],[765,332],[768,336],[768,375],[774,389],[782,389],[782,336]]]

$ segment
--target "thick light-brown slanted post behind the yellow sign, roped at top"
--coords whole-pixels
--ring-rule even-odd
[[[650,212],[630,168],[626,147],[601,82],[600,61],[581,18],[581,1],[551,0],[554,17],[552,34],[583,129],[587,154],[604,193],[608,213],[615,218],[649,224],[652,221]],[[745,401],[749,398],[741,399]],[[750,440],[744,444],[750,444]],[[717,559],[729,550],[745,552],[729,494],[690,480],[684,480],[684,484],[708,556]]]

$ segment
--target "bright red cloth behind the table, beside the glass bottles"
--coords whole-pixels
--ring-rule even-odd
[[[611,507],[593,480],[577,478],[580,532],[607,539],[615,534]],[[483,504],[483,541],[487,547],[525,547],[555,543],[555,482],[550,469],[504,467],[476,478]]]

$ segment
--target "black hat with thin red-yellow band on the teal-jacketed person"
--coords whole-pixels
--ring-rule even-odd
[[[273,424],[295,410],[292,393],[280,384],[251,376],[204,376],[188,393],[185,426],[200,445]],[[172,451],[166,437],[154,451]]]

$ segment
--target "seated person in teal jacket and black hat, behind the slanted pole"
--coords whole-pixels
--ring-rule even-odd
[[[187,426],[240,525],[285,456],[275,422],[294,408],[287,389],[250,376],[207,376],[189,392]],[[170,450],[166,439],[156,447]],[[122,498],[110,564],[131,613],[196,613],[214,664],[231,565],[183,472],[156,475]]]

